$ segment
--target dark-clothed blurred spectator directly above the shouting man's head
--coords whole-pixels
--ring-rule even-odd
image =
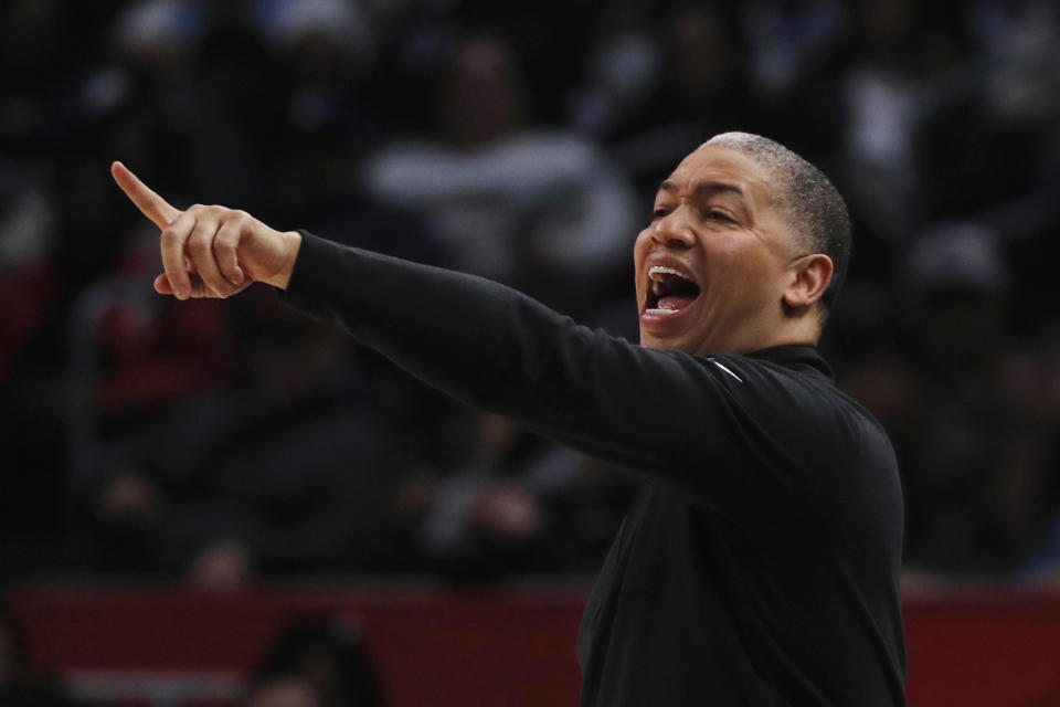
[[[661,21],[632,24],[590,54],[572,120],[612,146],[647,203],[690,145],[734,126],[770,131],[734,15],[721,6],[678,2]]]

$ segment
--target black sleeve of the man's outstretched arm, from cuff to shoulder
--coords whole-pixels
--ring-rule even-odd
[[[857,424],[807,376],[643,348],[480,277],[303,239],[288,303],[459,400],[734,520],[827,506],[828,471],[856,453]]]

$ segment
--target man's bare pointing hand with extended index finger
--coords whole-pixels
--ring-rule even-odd
[[[245,211],[195,204],[180,211],[121,162],[110,173],[137,209],[161,229],[155,289],[179,299],[229,297],[251,283],[284,288],[301,245],[296,231],[271,229]]]

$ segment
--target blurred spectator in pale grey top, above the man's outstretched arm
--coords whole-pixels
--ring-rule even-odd
[[[574,305],[628,260],[632,196],[592,144],[524,124],[499,36],[458,42],[442,80],[441,136],[381,149],[365,168],[385,202],[422,209],[452,262]]]

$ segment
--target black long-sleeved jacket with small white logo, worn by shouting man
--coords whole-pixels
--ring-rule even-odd
[[[582,705],[904,705],[894,454],[814,347],[646,349],[307,233],[286,298],[647,481],[582,620]]]

